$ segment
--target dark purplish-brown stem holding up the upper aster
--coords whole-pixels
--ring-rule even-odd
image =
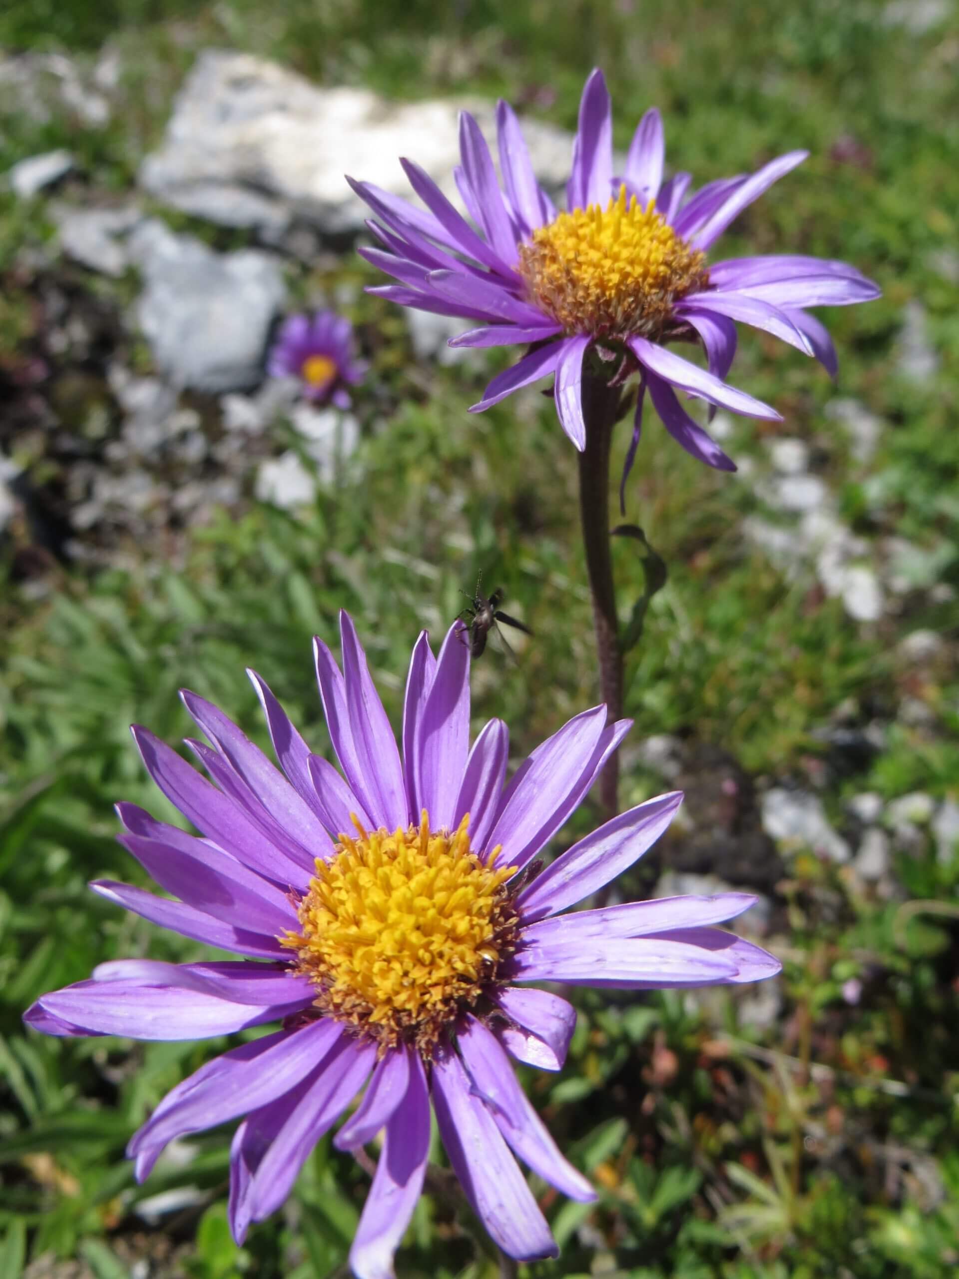
[[[620,389],[601,375],[583,370],[586,448],[579,454],[579,514],[589,591],[593,599],[600,692],[607,723],[623,716],[623,652],[619,643],[616,588],[610,551],[610,444],[619,417]],[[600,774],[600,799],[610,816],[619,812],[619,752]]]

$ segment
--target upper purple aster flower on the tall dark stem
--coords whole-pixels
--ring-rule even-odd
[[[474,225],[412,160],[402,164],[426,208],[350,180],[376,215],[367,225],[384,246],[359,252],[400,281],[370,292],[481,324],[451,339],[453,347],[531,345],[490,382],[472,412],[554,373],[560,423],[582,450],[589,416],[583,411],[583,366],[596,358],[589,354],[595,349],[615,381],[639,373],[627,472],[647,390],[688,453],[711,467],[735,469],[676,390],[733,413],[777,420],[775,409],[725,381],[737,347],[734,321],[775,334],[835,373],[829,334],[806,308],[848,306],[880,293],[844,262],[798,256],[707,261],[730,223],[807,152],[790,151],[753,174],[690,193],[688,173],[662,180],[662,120],[652,109],[616,175],[610,96],[595,70],[579,107],[566,210],[557,212],[536,180],[506,102],[499,104],[496,119],[505,189],[478,124],[469,113],[460,115],[463,164],[454,177]],[[675,341],[701,344],[708,371],[670,350]]]

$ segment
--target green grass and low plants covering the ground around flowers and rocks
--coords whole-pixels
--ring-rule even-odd
[[[634,747],[670,733],[721,747],[763,783],[821,787],[841,828],[859,792],[959,796],[959,12],[917,32],[890,22],[887,8],[410,0],[385,14],[377,0],[8,0],[0,49],[83,60],[110,41],[123,109],[102,127],[64,113],[37,120],[0,86],[0,170],[65,145],[92,192],[129,188],[183,73],[210,45],[405,98],[504,95],[566,127],[583,75],[600,63],[618,145],[655,102],[669,161],[699,180],[809,147],[809,161],[739,220],[728,255],[841,257],[885,297],[827,315],[838,391],[799,354],[743,335],[734,380],[786,418],[776,427],[737,422],[724,443],[753,464],[752,478],[707,472],[648,422],[629,517],[669,564],[669,582],[630,671],[637,723],[621,799],[664,788]],[[42,324],[20,263],[49,239],[43,203],[24,207],[0,191],[0,379],[20,375]],[[130,297],[128,280],[69,279],[105,304]],[[84,1279],[130,1275],[144,1257],[164,1279],[345,1274],[368,1181],[321,1142],[286,1210],[237,1250],[225,1220],[229,1134],[191,1138],[196,1159],[161,1165],[143,1187],[123,1157],[159,1099],[222,1044],[54,1040],[22,1027],[36,995],[100,962],[197,954],[86,888],[97,877],[142,881],[114,842],[113,803],[162,811],[129,723],[176,741],[187,732],[176,689],[188,686],[263,742],[243,674],[251,665],[315,748],[329,749],[309,637],[332,641],[340,608],[357,619],[398,723],[416,634],[449,624],[480,569],[518,601],[536,636],[515,665],[495,652],[477,665],[477,721],[503,715],[519,756],[595,701],[575,457],[552,407],[529,399],[468,416],[496,357],[480,370],[417,363],[403,317],[362,293],[371,281],[352,255],[297,281],[306,293],[348,290],[345,310],[372,359],[355,464],[315,508],[293,517],[251,501],[187,542],[180,535],[173,561],[162,547],[123,545],[124,567],[98,572],[50,560],[24,573],[24,528],[0,547],[3,1279],[19,1279],[45,1253],[82,1260]],[[898,362],[910,302],[924,308],[939,359],[922,385]],[[823,412],[836,394],[882,422],[868,463]],[[881,620],[850,620],[811,572],[784,573],[745,536],[756,515],[788,526],[753,482],[776,434],[809,446],[864,558],[901,560],[904,588]],[[635,551],[616,545],[624,620],[643,590]],[[900,647],[917,629],[944,636],[921,664]],[[831,725],[871,723],[882,730],[878,751],[841,755],[829,741]],[[587,803],[563,842],[596,816]],[[671,847],[664,840],[662,867]],[[589,993],[579,998],[564,1073],[528,1072],[536,1105],[601,1193],[598,1206],[584,1206],[537,1184],[564,1251],[555,1264],[520,1267],[528,1279],[955,1273],[959,852],[937,851],[919,828],[896,853],[889,889],[809,849],[785,852],[766,939],[786,966],[777,1016],[760,1018],[748,998],[725,993],[701,1001]],[[644,885],[638,870],[627,886]],[[904,914],[905,902],[932,908]],[[850,978],[862,981],[852,1004],[843,996]],[[199,1192],[192,1206],[134,1215],[139,1200],[183,1187]],[[496,1266],[427,1196],[398,1273],[481,1279]]]

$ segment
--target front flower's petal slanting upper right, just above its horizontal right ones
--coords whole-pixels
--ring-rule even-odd
[[[682,790],[647,799],[561,853],[517,895],[523,920],[565,911],[621,875],[652,848],[682,802]]]

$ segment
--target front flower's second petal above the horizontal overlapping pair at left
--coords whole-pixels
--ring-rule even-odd
[[[119,842],[160,888],[215,920],[230,926],[243,920],[251,931],[267,936],[295,927],[284,891],[199,839],[180,833],[179,839],[120,835]]]

